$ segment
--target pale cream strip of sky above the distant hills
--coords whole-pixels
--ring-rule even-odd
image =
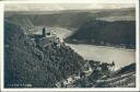
[[[94,0],[93,0],[94,1]],[[101,1],[101,0],[96,0]],[[102,0],[105,1],[105,0]],[[115,1],[115,0],[112,0]],[[60,11],[60,10],[90,10],[90,9],[120,9],[133,8],[135,0],[117,0],[120,2],[95,3],[7,3],[5,11]]]

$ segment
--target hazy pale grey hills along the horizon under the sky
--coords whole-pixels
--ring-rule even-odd
[[[133,21],[135,8],[127,9],[98,9],[98,10],[66,10],[66,11],[22,11],[5,12],[9,20],[22,23],[28,19],[35,26],[56,26],[67,28],[79,28],[90,20],[104,21]]]

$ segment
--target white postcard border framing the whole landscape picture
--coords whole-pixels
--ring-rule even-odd
[[[98,2],[97,2],[98,1]],[[105,0],[106,1],[106,0]],[[114,0],[115,1],[115,0]],[[120,0],[116,0],[120,1]],[[126,0],[125,0],[126,1]],[[139,62],[139,0],[133,0],[131,3],[136,3],[136,23],[137,23],[137,48],[136,48],[136,61],[137,61],[137,76],[136,76],[136,88],[70,88],[70,89],[46,89],[46,88],[27,88],[27,89],[5,89],[3,88],[3,16],[4,16],[4,4],[7,3],[113,3],[112,1],[103,2],[101,0],[38,0],[38,1],[1,1],[0,2],[0,66],[1,66],[1,90],[2,91],[140,91],[140,62]],[[114,3],[127,3],[127,2],[114,2]]]

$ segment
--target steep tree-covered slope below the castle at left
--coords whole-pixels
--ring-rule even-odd
[[[54,88],[83,65],[83,58],[70,47],[52,44],[40,49],[20,26],[4,22],[5,88]]]

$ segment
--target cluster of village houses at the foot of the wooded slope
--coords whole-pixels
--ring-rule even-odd
[[[89,60],[82,68],[81,71],[70,76],[68,79],[57,82],[57,88],[72,88],[72,84],[81,79],[86,79],[95,71],[108,74],[114,71],[114,65],[101,61]],[[74,87],[73,87],[74,88]]]

